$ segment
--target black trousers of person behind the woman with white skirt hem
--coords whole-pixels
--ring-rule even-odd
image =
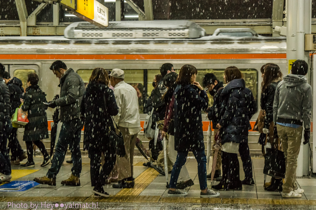
[[[245,173],[245,179],[252,178],[252,161],[248,143],[243,142],[239,144],[239,154],[242,161],[242,167]]]

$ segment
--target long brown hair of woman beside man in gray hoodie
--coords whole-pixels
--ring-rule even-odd
[[[281,79],[282,77],[283,75],[278,65],[276,65],[275,63],[267,63],[264,67],[264,75],[263,81],[261,83],[261,90],[264,91],[265,88],[267,88],[273,80],[276,80],[278,78]]]

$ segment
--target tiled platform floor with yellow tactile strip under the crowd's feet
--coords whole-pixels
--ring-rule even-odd
[[[66,156],[65,160],[70,159]],[[33,170],[38,170],[16,180],[26,181],[33,180],[34,177],[42,177],[46,174],[50,165],[47,167],[40,167],[42,157],[38,156],[34,159],[36,163]],[[40,201],[96,201],[99,202],[176,202],[176,203],[222,203],[222,204],[297,204],[297,205],[316,205],[316,178],[301,177],[297,179],[300,188],[304,189],[304,194],[298,199],[282,199],[279,192],[268,192],[264,190],[264,174],[263,166],[264,159],[262,157],[252,157],[253,178],[255,185],[243,185],[242,190],[222,191],[218,198],[203,198],[199,197],[200,187],[197,176],[197,162],[194,158],[188,158],[186,167],[189,174],[194,181],[194,185],[186,188],[184,191],[188,192],[185,198],[170,198],[167,197],[166,177],[158,175],[153,169],[144,167],[142,164],[146,159],[142,157],[134,158],[134,177],[136,179],[136,186],[134,189],[114,189],[112,184],[104,187],[111,197],[104,199],[94,199],[92,196],[92,189],[90,183],[90,159],[86,156],[82,157],[82,174],[80,177],[81,186],[63,186],[60,182],[67,179],[71,174],[72,164],[64,162],[60,172],[57,176],[57,186],[51,187],[48,185],[37,185],[29,190],[22,192],[0,192],[0,202],[10,201],[29,201],[30,199],[38,198]],[[210,162],[211,163],[211,162]],[[27,170],[20,168],[19,165],[13,165],[13,170]],[[211,165],[208,170],[210,172]],[[240,160],[240,176],[244,178],[242,171],[242,163]],[[170,179],[170,175],[169,175]],[[270,177],[267,178],[270,181]],[[210,188],[210,180],[208,186]]]

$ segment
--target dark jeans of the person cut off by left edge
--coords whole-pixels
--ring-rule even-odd
[[[4,175],[11,174],[11,164],[9,158],[9,152],[7,149],[8,135],[12,130],[12,124],[10,119],[7,119],[3,123],[2,134],[0,135],[0,172]]]

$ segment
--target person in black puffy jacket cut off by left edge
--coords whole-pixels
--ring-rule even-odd
[[[3,81],[4,66],[0,63],[0,183],[11,180],[11,165],[7,149],[8,135],[12,125],[10,121],[10,92]]]

